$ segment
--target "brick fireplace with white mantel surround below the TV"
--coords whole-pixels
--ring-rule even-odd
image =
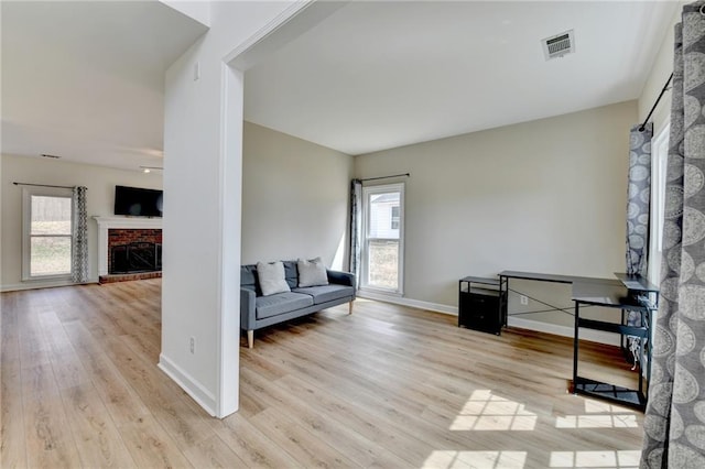
[[[100,283],[161,276],[161,218],[94,218],[98,223]]]

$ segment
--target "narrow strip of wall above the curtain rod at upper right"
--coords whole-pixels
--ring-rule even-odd
[[[687,2],[679,2],[679,3],[690,3]],[[674,30],[673,26],[675,23],[681,21],[681,4],[675,8],[676,12],[673,15],[673,20],[671,21],[671,26],[666,30],[666,34],[663,37],[663,42],[659,48],[659,54],[657,55],[657,59],[653,63],[653,67],[651,68],[651,73],[647,78],[647,83],[643,87],[641,96],[639,97],[639,121],[643,122],[643,120],[649,116],[649,111],[651,107],[655,102],[659,94],[663,89],[665,81],[669,79],[669,76],[673,72],[673,45],[674,45]],[[671,85],[669,85],[671,86]],[[653,122],[654,135],[658,135],[666,120],[671,116],[671,90],[668,90],[663,94],[659,106],[654,109],[653,114],[651,116],[651,121]]]

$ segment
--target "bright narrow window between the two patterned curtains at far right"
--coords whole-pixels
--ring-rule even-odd
[[[649,282],[658,285],[663,252],[665,173],[669,162],[669,122],[652,141],[651,154],[651,232],[649,233]]]

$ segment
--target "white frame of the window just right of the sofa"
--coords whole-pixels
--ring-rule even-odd
[[[362,246],[360,255],[360,290],[372,293],[403,296],[404,294],[404,183],[380,184],[362,187]],[[399,261],[397,265],[397,288],[384,288],[380,286],[369,285],[369,237],[368,229],[370,227],[370,196],[375,194],[399,193]],[[375,238],[386,239],[386,238]]]

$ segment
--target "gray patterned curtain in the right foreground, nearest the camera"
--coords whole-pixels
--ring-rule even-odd
[[[642,468],[705,468],[705,1],[675,26],[661,301]]]

